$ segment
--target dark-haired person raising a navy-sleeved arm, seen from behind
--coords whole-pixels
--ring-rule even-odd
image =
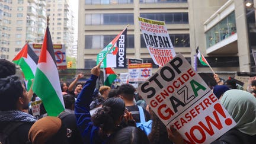
[[[126,113],[121,98],[108,98],[103,107],[91,117],[89,105],[98,76],[100,65],[91,69],[91,78],[85,83],[75,102],[76,124],[84,143],[109,143],[111,137],[123,128],[123,119],[132,119],[132,114]]]

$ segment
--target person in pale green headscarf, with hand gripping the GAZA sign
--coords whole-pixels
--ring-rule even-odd
[[[222,105],[236,121],[233,129],[220,136],[212,144],[251,144],[256,140],[256,99],[252,94],[239,89],[226,91],[220,98]],[[168,129],[168,137],[175,144],[183,144],[183,138],[173,127]]]

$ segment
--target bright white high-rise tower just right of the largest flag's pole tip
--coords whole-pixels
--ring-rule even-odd
[[[69,0],[46,0],[49,15],[49,28],[54,44],[65,44],[66,55],[72,49],[74,41],[73,12]]]

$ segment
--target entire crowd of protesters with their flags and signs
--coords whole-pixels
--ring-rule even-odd
[[[108,52],[119,38],[119,47],[123,48],[126,28],[115,42],[111,41]],[[172,46],[167,36],[158,40],[147,36],[149,45]],[[108,52],[102,53],[85,84],[79,83],[82,73],[74,75],[71,84],[60,83],[47,26],[40,57],[25,44],[13,63],[0,59],[0,143],[256,142],[256,80],[242,90],[235,79],[225,81],[213,72],[215,84],[207,85],[174,49],[152,51],[162,65],[137,88],[129,82],[110,87],[110,82],[97,89],[101,64]],[[24,79],[17,76],[15,64],[22,69]],[[111,69],[108,72],[114,73]]]

